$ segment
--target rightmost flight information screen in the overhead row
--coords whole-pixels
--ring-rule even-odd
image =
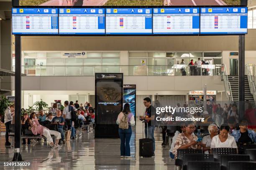
[[[247,7],[202,7],[200,34],[246,34]]]

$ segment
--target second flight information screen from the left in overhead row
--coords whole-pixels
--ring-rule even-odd
[[[59,34],[104,35],[105,9],[60,8]]]

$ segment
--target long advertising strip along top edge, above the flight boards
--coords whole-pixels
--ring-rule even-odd
[[[221,6],[240,5],[240,1],[241,0],[19,0],[17,4],[20,6]]]

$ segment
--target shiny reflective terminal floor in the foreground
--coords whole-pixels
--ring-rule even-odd
[[[135,130],[136,129],[136,130]],[[142,138],[142,123],[137,121],[131,138],[132,158],[120,158],[120,139],[94,139],[94,133],[83,131],[81,138],[67,142],[61,148],[47,148],[44,141],[22,145],[21,154],[29,167],[4,166],[13,159],[13,148],[5,148],[5,137],[0,136],[0,169],[43,170],[174,170],[174,161],[169,159],[169,149],[162,148],[161,129],[156,128],[155,158],[139,158],[139,139]]]

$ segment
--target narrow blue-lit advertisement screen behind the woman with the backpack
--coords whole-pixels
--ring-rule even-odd
[[[136,112],[136,89],[123,89],[123,105],[125,105],[125,103],[129,103],[130,104],[130,110],[131,113],[133,113],[134,116],[135,112]]]

